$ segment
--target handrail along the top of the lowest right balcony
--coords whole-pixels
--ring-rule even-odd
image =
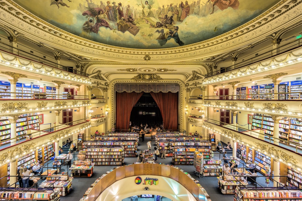
[[[214,119],[210,119],[210,118],[205,118],[204,120],[205,122],[207,123],[210,123],[210,124],[214,124],[216,126],[219,126],[219,127],[224,127],[224,128],[227,128],[228,130],[233,130],[235,132],[238,132],[238,133],[241,133],[242,135],[247,135],[249,137],[253,137],[253,138],[257,138],[259,140],[259,137],[263,138],[263,139],[266,139],[265,142],[266,143],[270,143],[274,146],[279,146],[283,149],[286,149],[288,151],[291,151],[293,152],[293,150],[291,149],[288,149],[287,147],[285,147],[282,143],[279,143],[280,139],[279,138],[276,138],[276,137],[273,137],[273,136],[270,136],[268,134],[265,134],[265,133],[259,133],[257,132],[256,130],[249,130],[249,129],[246,129],[246,128],[243,128],[243,127],[239,127],[239,126],[236,126],[236,125],[233,125],[233,124],[226,124],[224,122],[221,122],[221,121],[217,121],[217,120],[214,120]],[[236,130],[234,130],[233,128],[230,128],[228,126],[232,126],[234,127]],[[249,135],[246,134],[246,133],[243,133],[243,132],[240,132],[238,131],[240,129],[242,130],[245,130],[243,132],[250,132]],[[257,135],[255,135],[254,133],[257,133]],[[269,138],[265,138],[265,136],[269,136]],[[261,140],[261,139],[260,139]],[[295,143],[295,142],[292,142],[292,141],[288,141],[288,140],[284,140],[282,139],[282,141],[284,142],[287,142],[288,144],[291,144],[291,146],[288,146],[288,147],[293,147],[294,149],[296,149],[296,152],[295,153],[298,153],[298,154],[301,154],[302,152],[302,149],[300,149],[299,147],[301,146],[299,143]],[[278,143],[278,144],[275,144],[275,143]],[[300,151],[300,153],[298,152],[298,150]]]

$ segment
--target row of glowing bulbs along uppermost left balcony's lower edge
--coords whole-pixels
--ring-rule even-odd
[[[18,65],[18,64],[13,64],[13,63],[10,63],[8,61],[1,61],[1,63],[4,63],[6,65],[9,65],[9,66],[12,66],[12,67],[17,67],[17,68],[21,68],[21,69],[24,69],[24,70],[28,70],[28,71],[33,71],[33,72],[36,72],[36,73],[40,73],[40,74],[43,74],[43,75],[49,75],[49,76],[53,76],[53,77],[59,77],[59,78],[64,78],[66,80],[72,80],[72,81],[76,81],[76,82],[82,82],[82,83],[87,83],[87,84],[91,84],[91,81],[85,77],[81,77],[80,79],[77,79],[76,78],[76,75],[75,75],[75,78],[72,78],[72,77],[66,77],[63,72],[61,71],[59,74],[54,74],[54,73],[49,73],[49,72],[45,72],[45,71],[41,71],[39,69],[34,69],[34,68],[31,68],[31,67],[25,67],[25,66],[21,66],[21,65]],[[54,71],[56,72],[56,71]],[[70,74],[69,74],[70,76]]]

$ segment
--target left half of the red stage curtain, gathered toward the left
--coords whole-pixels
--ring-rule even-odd
[[[116,130],[128,130],[132,108],[144,92],[116,93]]]

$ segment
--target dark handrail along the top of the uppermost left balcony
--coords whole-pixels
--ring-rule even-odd
[[[23,46],[20,43],[18,43],[18,45],[19,46]],[[27,48],[26,46],[23,46],[23,47]],[[77,75],[88,77],[88,74],[85,73],[85,72],[78,71],[78,70],[70,68],[68,66],[63,66],[61,64],[57,64],[57,63],[55,63],[53,61],[50,61],[50,60],[48,60],[46,58],[39,57],[39,56],[37,56],[37,55],[35,55],[33,53],[26,52],[24,50],[21,50],[21,49],[19,49],[17,47],[14,47],[14,46],[10,46],[10,45],[8,45],[8,44],[6,44],[4,42],[1,42],[1,41],[0,41],[0,51],[6,52],[8,54],[16,55],[16,56],[22,57],[24,59],[35,61],[35,62],[38,62],[40,64],[47,65],[47,66],[49,66],[51,68],[56,68],[56,69],[63,70],[63,71],[69,72],[69,73],[74,73],[74,74],[77,74]],[[13,51],[13,52],[11,52],[11,51]],[[35,51],[37,51],[37,50],[35,50]],[[40,53],[40,54],[43,55],[44,53]],[[66,70],[64,70],[64,68]]]

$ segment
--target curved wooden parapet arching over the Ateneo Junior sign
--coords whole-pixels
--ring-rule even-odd
[[[175,166],[170,166],[165,164],[137,163],[137,164],[125,165],[125,166],[114,168],[108,174],[102,176],[101,179],[95,184],[95,186],[92,187],[88,195],[84,198],[84,201],[96,200],[96,198],[101,196],[102,192],[104,192],[108,187],[110,187],[112,184],[114,184],[119,180],[125,179],[127,177],[142,176],[142,175],[148,175],[148,176],[154,175],[154,176],[171,178],[174,181],[181,184],[182,187],[185,187],[192,194],[192,196],[194,196],[196,200],[198,201],[207,200],[206,196],[204,195],[204,192],[201,190],[202,187],[199,187],[198,184],[195,183],[193,179],[191,179],[187,174],[185,174],[185,171],[182,171],[181,169]],[[170,191],[174,192],[173,189],[169,187],[169,185],[166,186],[165,189],[160,189],[160,186],[157,187],[157,185],[152,186],[152,188],[158,188],[157,192],[165,191],[166,194],[169,194]],[[143,186],[135,185],[133,186],[132,190],[135,193],[143,194],[143,189],[144,189]],[[150,189],[149,192],[152,192],[152,190]],[[119,198],[121,196],[122,195],[119,195]],[[185,201],[188,200],[188,197],[178,196],[177,198],[175,197],[175,199]]]

